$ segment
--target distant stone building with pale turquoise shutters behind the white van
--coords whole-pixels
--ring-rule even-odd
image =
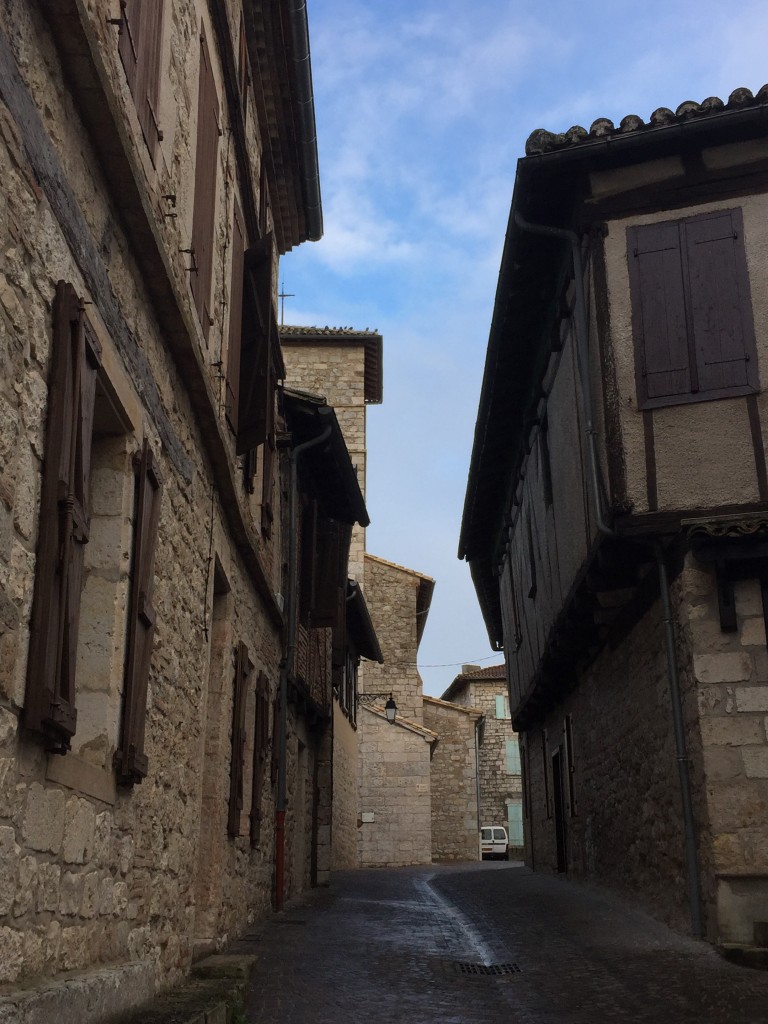
[[[481,825],[504,824],[513,856],[522,854],[520,750],[512,729],[503,665],[465,665],[442,699],[482,715],[479,729],[478,794]]]

